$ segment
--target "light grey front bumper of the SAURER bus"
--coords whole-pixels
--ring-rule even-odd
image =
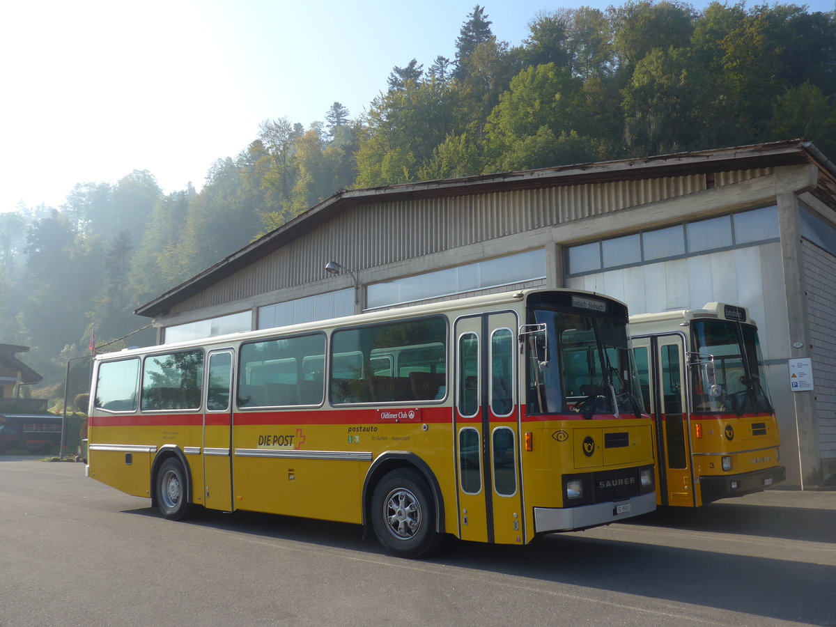
[[[534,533],[572,531],[617,523],[624,518],[653,512],[656,493],[648,492],[624,501],[608,501],[578,507],[534,507]]]

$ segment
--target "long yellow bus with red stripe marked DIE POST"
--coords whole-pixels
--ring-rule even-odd
[[[627,308],[526,290],[103,354],[90,477],[345,523],[395,555],[526,544],[655,509]]]

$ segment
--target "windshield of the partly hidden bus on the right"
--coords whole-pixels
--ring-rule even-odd
[[[772,411],[757,329],[728,320],[696,320],[691,326],[692,410]]]

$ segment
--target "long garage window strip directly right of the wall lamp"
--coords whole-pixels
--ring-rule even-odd
[[[542,278],[546,278],[546,254],[540,248],[385,283],[373,283],[366,288],[367,306],[374,309],[415,303]]]

